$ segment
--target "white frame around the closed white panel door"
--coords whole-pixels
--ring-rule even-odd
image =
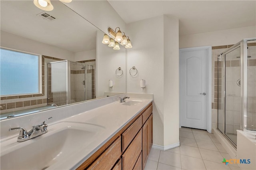
[[[206,117],[207,117],[207,132],[212,132],[212,46],[201,46],[201,47],[189,47],[189,48],[180,48],[179,49],[179,96],[180,96],[180,54],[184,51],[197,51],[197,50],[207,50],[207,106],[206,106]],[[180,100],[180,97],[179,97]],[[180,106],[181,107],[181,102]],[[179,113],[180,116],[180,113]],[[180,128],[181,128],[181,119],[180,119]]]

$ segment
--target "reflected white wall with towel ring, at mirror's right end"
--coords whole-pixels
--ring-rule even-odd
[[[114,50],[102,43],[104,33],[97,31],[96,55],[96,98],[103,97],[105,92],[126,92],[126,53],[125,48]],[[121,67],[123,75],[116,76],[116,69]],[[119,73],[118,73],[119,74]],[[108,87],[108,80],[113,81],[113,87]]]

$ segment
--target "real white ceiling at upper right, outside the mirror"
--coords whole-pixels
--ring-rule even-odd
[[[179,34],[256,25],[255,0],[108,0],[126,23],[165,14],[179,19]]]

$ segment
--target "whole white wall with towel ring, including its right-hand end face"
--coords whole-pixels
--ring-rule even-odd
[[[127,93],[153,93],[153,143],[178,143],[178,19],[157,16],[129,23],[126,29],[133,45],[126,49]],[[138,69],[136,77],[129,74],[132,66]],[[141,79],[146,80],[144,91],[140,88]]]

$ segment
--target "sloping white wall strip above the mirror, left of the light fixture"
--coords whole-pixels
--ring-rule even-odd
[[[65,5],[105,33],[108,33],[108,27],[120,27],[126,32],[126,23],[106,0],[73,0]]]

